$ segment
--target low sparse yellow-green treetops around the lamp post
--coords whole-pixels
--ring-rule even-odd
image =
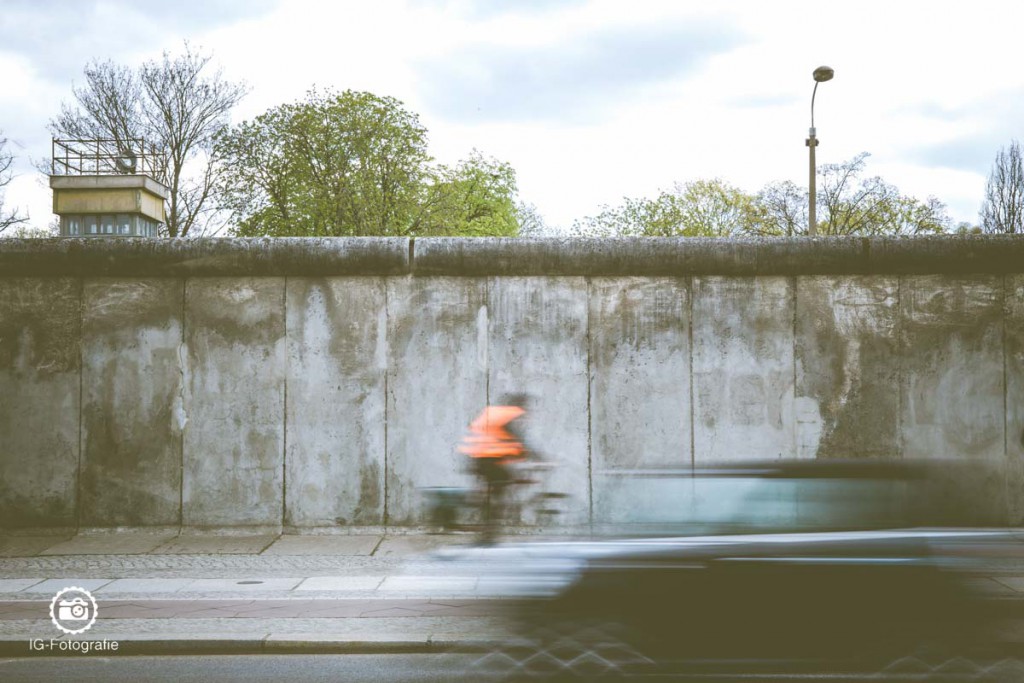
[[[907,197],[882,178],[864,178],[867,154],[819,170],[820,234],[921,234],[949,228],[935,198]],[[793,237],[808,232],[808,191],[790,181],[748,195],[721,180],[677,184],[655,199],[626,198],[578,221],[579,234],[681,237]]]

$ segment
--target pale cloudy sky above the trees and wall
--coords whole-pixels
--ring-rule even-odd
[[[545,221],[720,178],[748,193],[866,171],[978,222],[1000,147],[1024,138],[1024,3],[1005,0],[0,0],[5,207],[52,219],[47,123],[90,60],[137,66],[184,42],[251,88],[232,121],[310,88],[401,100],[452,164],[508,162]]]

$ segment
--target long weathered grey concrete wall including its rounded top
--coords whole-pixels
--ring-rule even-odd
[[[0,241],[2,526],[423,524],[521,390],[567,526],[793,457],[978,462],[1019,523],[1024,240]]]

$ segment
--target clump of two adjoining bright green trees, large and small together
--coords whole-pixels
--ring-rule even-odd
[[[515,171],[473,152],[434,166],[419,117],[392,97],[312,90],[217,140],[240,236],[514,236]]]

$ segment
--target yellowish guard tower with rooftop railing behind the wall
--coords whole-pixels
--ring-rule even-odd
[[[50,187],[62,238],[156,238],[167,188],[142,139],[53,140]]]

